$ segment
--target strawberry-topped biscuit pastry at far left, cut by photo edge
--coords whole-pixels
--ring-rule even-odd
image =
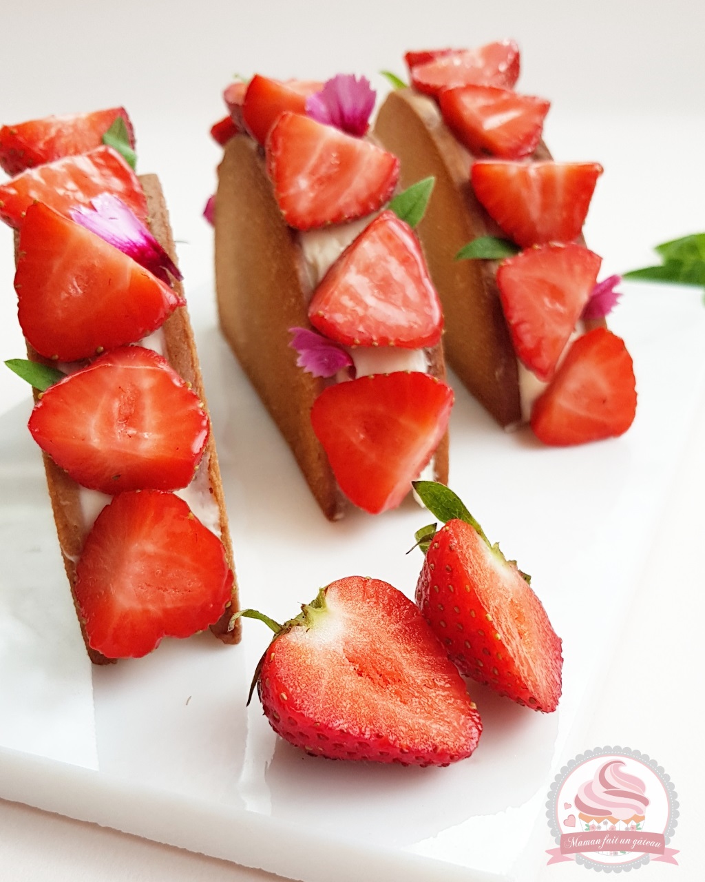
[[[115,145],[121,150],[116,152]],[[156,176],[122,108],[0,131],[29,428],[88,653],[239,639],[218,457]],[[23,165],[24,163],[24,165]],[[148,227],[145,224],[148,223]]]

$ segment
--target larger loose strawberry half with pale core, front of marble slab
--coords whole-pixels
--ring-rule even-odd
[[[350,576],[301,610],[284,626],[252,609],[240,614],[276,634],[256,682],[278,735],[328,759],[448,766],[471,755],[479,714],[404,594]]]

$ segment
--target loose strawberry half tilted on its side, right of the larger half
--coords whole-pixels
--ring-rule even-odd
[[[529,577],[491,545],[456,494],[418,481],[414,489],[446,520],[416,534],[426,558],[416,602],[461,673],[534,710],[560,699],[560,638]]]

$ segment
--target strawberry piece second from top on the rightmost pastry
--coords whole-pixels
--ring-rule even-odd
[[[495,86],[459,86],[439,95],[443,119],[472,153],[520,159],[536,150],[550,101]]]

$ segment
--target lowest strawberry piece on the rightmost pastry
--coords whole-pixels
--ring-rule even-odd
[[[636,413],[634,364],[624,341],[598,327],[568,349],[531,411],[531,429],[547,445],[616,437]]]

